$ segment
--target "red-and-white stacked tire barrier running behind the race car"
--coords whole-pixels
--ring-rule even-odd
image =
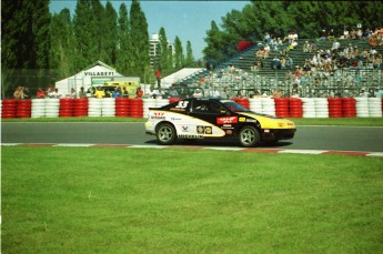
[[[181,100],[170,99],[32,99],[2,100],[1,118],[145,118],[149,108]],[[280,118],[382,118],[381,98],[233,98],[251,111]]]

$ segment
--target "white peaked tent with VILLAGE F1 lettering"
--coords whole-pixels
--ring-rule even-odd
[[[79,92],[81,87],[87,91],[91,85],[103,84],[103,82],[111,81],[115,77],[123,75],[108,64],[97,61],[79,73],[56,82],[56,88],[59,90],[59,93],[65,95],[70,93],[72,88],[74,88],[75,92]]]

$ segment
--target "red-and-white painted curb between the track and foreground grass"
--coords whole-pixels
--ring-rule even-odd
[[[258,153],[280,153],[280,154],[341,154],[352,156],[377,156],[383,158],[383,152],[362,151],[334,151],[334,150],[292,150],[292,149],[246,149],[246,148],[221,148],[221,146],[187,146],[187,145],[135,145],[135,144],[71,144],[71,143],[1,143],[1,146],[51,146],[51,148],[127,148],[127,149],[190,149],[190,150],[220,150],[220,151],[242,151]]]

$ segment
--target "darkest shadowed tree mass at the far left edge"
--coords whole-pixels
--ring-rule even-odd
[[[17,85],[46,82],[49,67],[49,1],[1,1],[2,95]],[[50,77],[48,77],[50,78]]]

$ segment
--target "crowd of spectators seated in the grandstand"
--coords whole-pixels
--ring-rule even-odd
[[[352,29],[347,31],[344,29],[342,34],[335,34],[334,30],[322,30],[319,38],[314,40],[306,40],[304,43],[299,44],[298,33],[292,30],[284,38],[273,38],[270,33],[265,33],[262,45],[255,51],[253,65],[250,68],[253,73],[263,69],[269,70],[285,70],[285,82],[291,83],[294,90],[292,94],[298,95],[298,89],[302,87],[321,88],[323,80],[330,77],[339,75],[339,80],[345,85],[361,84],[362,70],[374,70],[382,78],[382,54],[376,51],[376,45],[382,45],[383,29]],[[355,40],[355,43],[353,43]],[[369,41],[361,43],[363,47],[357,47],[356,40]],[[323,41],[331,42],[322,43]],[[291,52],[300,49],[306,59],[302,65],[294,65],[294,60]],[[270,62],[270,65],[265,65]],[[219,70],[218,78],[231,75],[232,80],[239,82],[246,80],[249,73],[238,70],[233,71],[233,67]],[[341,72],[341,74],[340,74]],[[205,77],[204,82],[209,83],[210,77]],[[241,94],[236,94],[241,95]],[[272,95],[272,94],[270,94]],[[334,94],[332,94],[334,95]],[[374,96],[371,91],[370,96]]]

